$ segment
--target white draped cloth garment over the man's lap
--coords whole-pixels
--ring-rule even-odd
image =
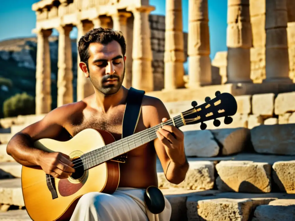
[[[117,188],[113,194],[90,192],[78,201],[70,221],[169,221],[171,205],[152,214],[145,206],[145,189]]]

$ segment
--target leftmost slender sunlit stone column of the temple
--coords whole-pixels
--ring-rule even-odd
[[[52,30],[37,32],[36,62],[36,114],[48,113],[51,110],[51,70],[48,37]]]

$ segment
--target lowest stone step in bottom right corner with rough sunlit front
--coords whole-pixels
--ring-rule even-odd
[[[183,202],[179,201],[179,207]],[[187,217],[183,220],[206,221],[274,221],[295,220],[293,194],[283,193],[215,193],[191,194],[186,200]],[[254,217],[253,217],[254,211]]]

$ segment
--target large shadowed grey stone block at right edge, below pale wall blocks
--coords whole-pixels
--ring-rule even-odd
[[[257,153],[295,155],[295,124],[260,125],[251,129]]]

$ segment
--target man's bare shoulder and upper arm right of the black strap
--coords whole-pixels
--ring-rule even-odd
[[[150,127],[162,122],[162,118],[170,119],[169,112],[162,100],[145,95],[142,99],[142,114]]]

